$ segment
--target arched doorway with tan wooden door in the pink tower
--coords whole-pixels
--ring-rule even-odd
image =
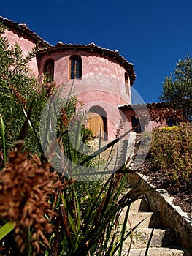
[[[99,136],[103,140],[108,140],[107,136],[107,113],[100,106],[93,106],[88,114],[88,128],[91,129],[94,136]]]

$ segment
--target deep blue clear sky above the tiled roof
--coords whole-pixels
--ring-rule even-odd
[[[96,45],[118,50],[134,64],[134,89],[158,102],[164,78],[177,61],[192,56],[191,0],[2,1],[0,15],[26,23],[55,45]]]

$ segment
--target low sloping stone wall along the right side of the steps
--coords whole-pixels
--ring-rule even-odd
[[[130,173],[128,178],[131,186],[136,185],[141,179],[139,187],[148,198],[150,211],[160,214],[162,227],[174,230],[177,244],[192,249],[192,218],[179,206],[174,206],[174,197],[168,195],[164,189],[155,189],[142,174]]]

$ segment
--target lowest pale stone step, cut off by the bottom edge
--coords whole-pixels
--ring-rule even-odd
[[[128,256],[144,256],[145,255],[145,248],[140,249],[131,249],[128,253],[128,249],[124,249],[122,251],[122,255]],[[149,248],[147,252],[147,256],[191,256],[191,250],[185,248],[166,248],[166,247],[153,247]]]

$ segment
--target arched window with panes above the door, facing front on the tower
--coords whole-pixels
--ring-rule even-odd
[[[70,79],[81,79],[82,77],[82,61],[80,56],[70,57]]]

